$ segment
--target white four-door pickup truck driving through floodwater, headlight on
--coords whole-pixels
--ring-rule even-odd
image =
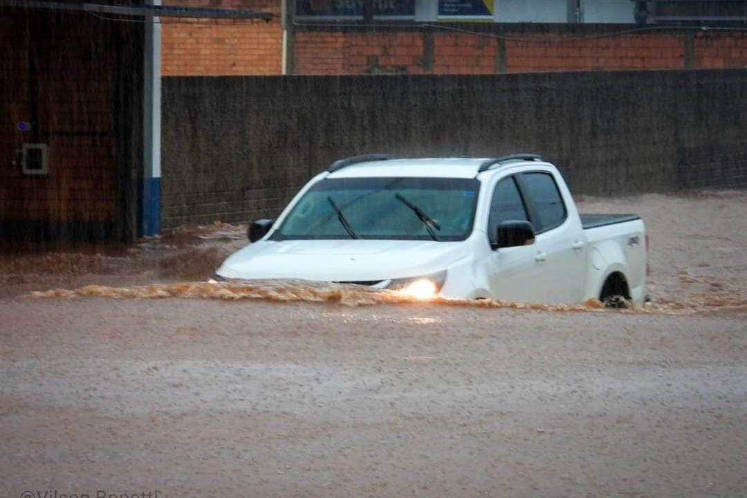
[[[414,296],[608,305],[645,299],[646,237],[632,214],[580,215],[539,156],[335,161],[220,279],[301,278]]]

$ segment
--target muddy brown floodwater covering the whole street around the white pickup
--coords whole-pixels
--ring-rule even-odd
[[[744,191],[579,204],[651,305],[207,284],[231,225],[1,255],[0,497],[746,496]]]

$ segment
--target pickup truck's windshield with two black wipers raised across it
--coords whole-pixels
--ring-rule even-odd
[[[473,178],[325,178],[270,240],[465,240],[479,188]]]

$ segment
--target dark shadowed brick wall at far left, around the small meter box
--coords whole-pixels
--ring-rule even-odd
[[[116,52],[108,25],[87,14],[8,9],[0,26],[0,221],[114,220]],[[35,121],[35,131],[19,132],[21,120]],[[27,142],[48,145],[48,175],[10,164]]]

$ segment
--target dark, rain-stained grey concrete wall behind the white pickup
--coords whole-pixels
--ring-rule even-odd
[[[163,225],[274,217],[367,152],[539,152],[574,193],[747,184],[747,70],[164,78]]]

